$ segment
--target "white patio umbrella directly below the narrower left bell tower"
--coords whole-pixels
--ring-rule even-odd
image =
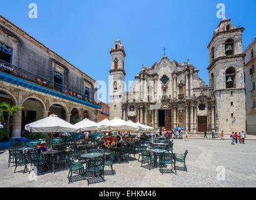
[[[138,126],[127,123],[125,120],[120,118],[114,118],[110,121],[110,130],[116,131],[138,131]]]

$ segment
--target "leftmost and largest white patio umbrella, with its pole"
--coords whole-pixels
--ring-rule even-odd
[[[64,121],[58,116],[51,114],[48,118],[40,119],[34,123],[26,124],[25,129],[29,132],[51,132],[51,149],[53,144],[53,132],[74,132],[78,133],[79,128]]]

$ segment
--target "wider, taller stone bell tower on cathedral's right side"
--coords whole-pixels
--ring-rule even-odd
[[[223,18],[213,32],[209,49],[209,86],[215,96],[215,132],[245,131],[243,27]]]

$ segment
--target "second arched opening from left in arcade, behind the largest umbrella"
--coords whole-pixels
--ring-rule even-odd
[[[24,129],[24,126],[34,121],[42,119],[43,107],[35,98],[28,98],[23,102],[23,111],[22,111],[22,121],[21,129]]]

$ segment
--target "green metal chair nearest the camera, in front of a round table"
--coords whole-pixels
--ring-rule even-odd
[[[87,179],[87,183],[89,186],[89,173],[96,174],[96,172],[99,172],[99,176],[103,178],[103,182],[105,182],[104,178],[104,163],[105,159],[104,156],[100,156],[97,158],[89,159],[86,162],[86,168],[85,168],[85,177]]]

